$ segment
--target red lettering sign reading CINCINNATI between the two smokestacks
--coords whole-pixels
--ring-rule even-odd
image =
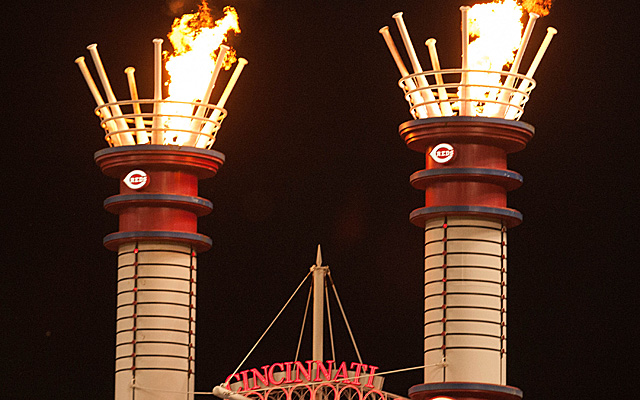
[[[227,389],[247,392],[268,387],[333,381],[346,385],[381,389],[383,378],[374,375],[378,367],[352,362],[339,365],[333,360],[287,361],[240,371],[227,377]]]

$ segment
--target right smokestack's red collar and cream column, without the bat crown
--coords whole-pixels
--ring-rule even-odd
[[[448,117],[405,122],[399,131],[426,158],[410,178],[425,191],[425,206],[410,215],[425,232],[425,370],[424,384],[409,394],[518,399],[521,392],[506,386],[507,229],[522,215],[507,207],[506,194],[522,176],[507,169],[507,154],[524,149],[534,128]],[[471,396],[472,387],[489,397]],[[499,397],[505,391],[512,396]]]

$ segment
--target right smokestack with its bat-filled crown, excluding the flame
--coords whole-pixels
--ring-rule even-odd
[[[507,207],[507,192],[522,184],[507,168],[507,154],[523,150],[534,135],[533,126],[518,119],[535,87],[532,71],[556,31],[549,29],[526,75],[518,66],[477,70],[468,54],[472,13],[461,8],[460,69],[440,69],[429,39],[434,69],[408,75],[388,28],[380,30],[414,118],[400,125],[400,136],[426,163],[410,177],[425,192],[425,206],[410,214],[425,232],[424,382],[409,390],[412,400],[522,398],[506,383],[507,229],[522,222],[522,214]],[[516,38],[522,51],[532,29],[530,22]],[[407,35],[400,30],[403,40]],[[428,107],[439,107],[443,116],[425,113]]]

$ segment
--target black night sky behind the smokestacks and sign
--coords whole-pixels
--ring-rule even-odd
[[[423,65],[435,37],[443,68],[458,67],[459,6],[473,2],[310,3],[210,2],[236,7],[231,44],[249,65],[214,146],[226,163],[200,185],[214,211],[199,232],[214,246],[198,261],[198,391],[235,369],[318,244],[363,361],[422,363],[423,232],[408,215],[424,206],[409,185],[424,156],[397,133],[410,115],[378,29],[389,25],[400,46],[391,16],[404,11]],[[509,231],[507,382],[525,399],[633,398],[624,393],[637,382],[638,24],[618,3],[556,0],[523,62],[556,27],[522,118],[536,135],[509,156],[525,183],[508,196],[524,222]],[[117,260],[102,238],[117,217],[102,202],[118,184],[93,162],[106,142],[74,59],[93,68],[85,47],[98,43],[116,95],[128,98],[122,71],[133,65],[149,98],[152,40],[175,14],[160,0],[5,7],[0,397],[110,399]],[[244,368],[294,358],[307,290]],[[336,358],[356,361],[332,311]],[[385,389],[406,395],[421,382],[397,374]]]

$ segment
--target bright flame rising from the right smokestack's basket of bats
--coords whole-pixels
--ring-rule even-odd
[[[469,69],[502,71],[512,63],[522,36],[522,7],[516,0],[476,4],[469,10],[468,49]],[[500,74],[471,72],[471,85],[500,86]],[[471,98],[495,100],[499,89],[471,87]],[[475,111],[482,114],[493,103],[474,103]]]

